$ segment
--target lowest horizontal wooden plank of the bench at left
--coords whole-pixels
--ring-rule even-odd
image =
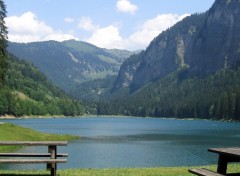
[[[2,164],[66,163],[66,159],[0,159]]]

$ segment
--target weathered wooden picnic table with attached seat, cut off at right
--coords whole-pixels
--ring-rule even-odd
[[[189,169],[190,173],[199,176],[230,176],[230,175],[240,175],[240,173],[228,173],[227,166],[228,163],[240,162],[240,148],[210,148],[209,152],[218,154],[218,165],[217,172],[209,171],[204,168],[200,169]]]

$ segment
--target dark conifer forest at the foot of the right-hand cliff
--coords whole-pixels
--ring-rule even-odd
[[[98,114],[240,120],[240,68],[205,77],[176,71],[126,98],[99,103]]]

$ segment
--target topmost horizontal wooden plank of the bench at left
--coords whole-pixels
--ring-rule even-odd
[[[67,141],[0,141],[0,145],[66,146],[67,144]]]

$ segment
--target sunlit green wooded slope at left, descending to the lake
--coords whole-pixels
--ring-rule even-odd
[[[9,56],[0,88],[0,116],[83,115],[83,105],[53,86],[30,62]]]

